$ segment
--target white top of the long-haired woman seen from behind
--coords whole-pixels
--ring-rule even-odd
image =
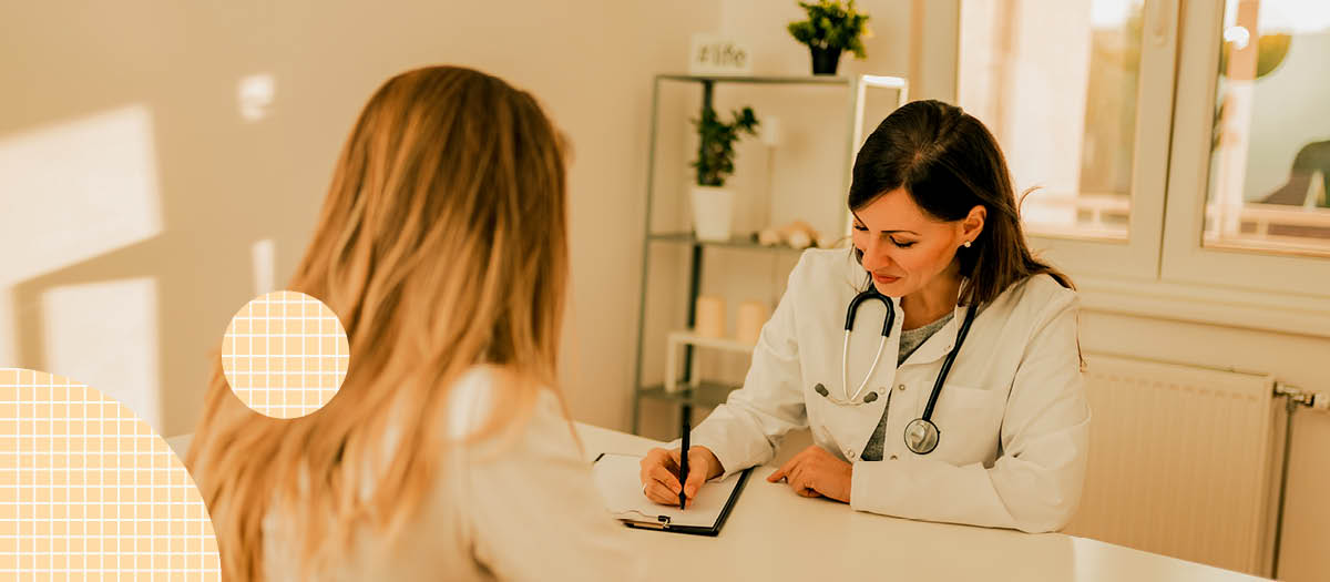
[[[451,389],[446,465],[430,496],[386,541],[356,532],[336,562],[314,579],[485,581],[633,579],[624,530],[596,497],[591,465],[553,392],[541,391],[531,419],[509,435],[466,442],[491,413],[503,372],[475,367]],[[302,579],[299,534],[274,508],[263,520],[265,573]]]

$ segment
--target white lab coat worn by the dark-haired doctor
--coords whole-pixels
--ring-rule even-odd
[[[850,505],[914,520],[1051,532],[1080,501],[1089,405],[1081,385],[1079,300],[1048,275],[1007,288],[984,307],[947,376],[932,420],[938,448],[915,454],[904,428],[923,415],[964,307],[898,368],[904,311],[864,388],[872,403],[845,407],[814,392],[821,383],[845,399],[841,347],[845,315],[867,274],[846,250],[810,250],[762,328],[741,389],[693,432],[726,474],[771,460],[793,429],[854,464]],[[863,381],[880,341],[886,307],[861,306],[850,340],[850,387]],[[863,400],[863,395],[859,400]],[[890,396],[890,397],[888,397]],[[890,401],[883,460],[861,458]]]

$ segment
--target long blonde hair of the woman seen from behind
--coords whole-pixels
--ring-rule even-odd
[[[520,424],[556,385],[565,197],[560,136],[531,94],[456,66],[410,70],[374,93],[287,286],[342,319],[351,360],[340,391],[310,416],[267,419],[213,357],[186,466],[223,578],[262,578],[274,502],[299,508],[307,571],[358,528],[391,538],[438,477],[448,388],[472,365],[509,380],[480,436]]]

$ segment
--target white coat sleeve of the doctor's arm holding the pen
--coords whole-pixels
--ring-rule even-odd
[[[725,476],[770,461],[786,433],[809,424],[795,336],[797,280],[807,256],[790,271],[781,303],[762,326],[743,387],[693,429],[692,444],[716,453]]]

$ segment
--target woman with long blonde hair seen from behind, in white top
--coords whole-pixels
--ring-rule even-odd
[[[565,229],[531,94],[451,66],[379,88],[287,287],[346,326],[340,392],[270,420],[214,364],[188,466],[223,578],[628,575],[555,389]]]

